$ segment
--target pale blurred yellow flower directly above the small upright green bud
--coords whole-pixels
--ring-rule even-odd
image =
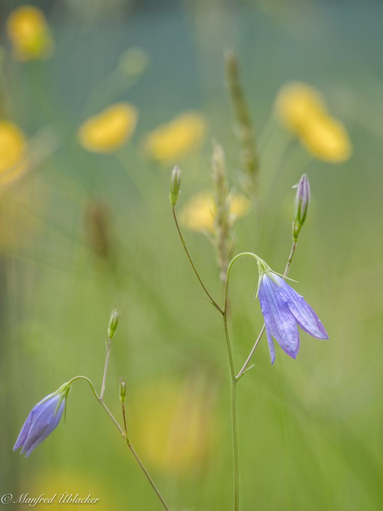
[[[206,120],[200,113],[184,112],[151,131],[145,137],[143,147],[151,158],[169,163],[196,150],[206,130]]]

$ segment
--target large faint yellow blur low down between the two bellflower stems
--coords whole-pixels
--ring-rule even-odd
[[[134,403],[132,442],[142,459],[169,473],[201,466],[218,435],[215,392],[206,378],[149,383]]]

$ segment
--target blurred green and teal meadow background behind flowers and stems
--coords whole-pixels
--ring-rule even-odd
[[[239,60],[260,151],[261,208],[235,223],[235,252],[254,251],[283,272],[295,191],[308,174],[312,204],[290,276],[323,320],[329,341],[301,333],[297,360],[266,338],[237,387],[241,508],[373,510],[383,507],[383,5],[367,2],[46,1],[55,51],[12,57],[1,12],[1,117],[50,150],[0,198],[0,493],[100,498],[98,509],[160,509],[109,417],[83,381],[65,423],[26,459],[12,452],[32,407],[77,375],[100,390],[111,310],[105,401],[122,415],[127,381],[131,440],[172,510],[232,508],[230,381],[220,315],[188,266],[173,223],[169,180],[182,169],[179,211],[209,190],[211,139],[241,189],[240,142],[225,84],[224,52]],[[116,67],[128,49],[146,55],[139,76]],[[343,164],[309,157],[273,117],[289,81],[318,88],[346,126]],[[126,101],[138,111],[129,142],[86,151],[89,115]],[[181,112],[207,119],[204,142],[159,164],[142,138]],[[261,214],[259,213],[261,211]],[[222,302],[214,250],[184,235],[211,294]],[[230,284],[236,370],[262,326],[253,305],[256,265],[239,262]],[[10,504],[14,509],[21,504]],[[50,508],[56,508],[54,504]],[[37,507],[42,507],[41,505]]]

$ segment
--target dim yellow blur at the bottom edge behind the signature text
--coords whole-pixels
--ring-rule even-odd
[[[97,509],[102,509],[103,511],[110,511],[111,509],[117,509],[117,503],[115,498],[113,497],[113,491],[110,489],[105,482],[103,483],[100,479],[95,479],[95,477],[89,474],[85,475],[85,471],[88,472],[88,469],[84,469],[84,474],[76,473],[72,470],[68,472],[60,472],[60,471],[50,471],[49,473],[43,472],[37,474],[32,481],[26,481],[28,486],[29,497],[39,497],[39,495],[44,494],[44,498],[53,497],[56,494],[53,502],[50,504],[39,503],[34,506],[34,508],[46,508],[49,509],[62,509],[70,506],[80,507],[81,509],[85,507],[88,509],[91,506],[97,506]],[[76,494],[80,498],[85,499],[90,494],[90,498],[99,498],[100,500],[93,504],[81,504],[81,503],[71,503],[68,502],[70,498],[70,494],[72,494],[72,499],[76,497]],[[66,497],[66,501],[64,501]],[[61,498],[61,503],[59,502]],[[21,504],[20,504],[21,506]],[[28,504],[26,504],[28,507]]]

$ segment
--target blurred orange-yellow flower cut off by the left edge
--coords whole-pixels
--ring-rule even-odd
[[[27,139],[8,121],[0,121],[0,185],[8,184],[26,170]]]

